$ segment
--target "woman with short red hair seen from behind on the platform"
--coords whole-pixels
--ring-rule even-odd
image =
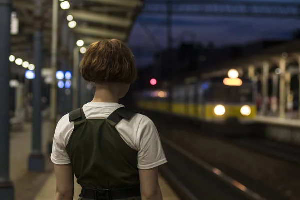
[[[131,50],[116,39],[95,42],[80,72],[95,84],[95,95],[57,124],[55,200],[73,199],[74,173],[82,187],[79,199],[162,199],[158,166],[167,160],[157,129],[148,117],[118,104],[136,79]]]

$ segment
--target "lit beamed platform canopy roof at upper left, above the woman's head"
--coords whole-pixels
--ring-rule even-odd
[[[71,29],[74,39],[82,39],[85,44],[103,38],[116,38],[127,41],[131,27],[143,8],[143,0],[68,0],[70,8],[61,9],[59,1],[59,34],[62,24],[68,24],[66,16],[72,15],[76,27]],[[50,56],[52,2],[44,0],[43,4],[43,41],[44,54]],[[13,11],[19,19],[19,32],[11,35],[11,54],[23,60],[33,61],[35,0],[13,0]],[[68,27],[69,28],[69,27]],[[70,29],[70,28],[69,28]],[[61,44],[62,36],[59,35]],[[76,41],[74,41],[76,42]],[[61,46],[61,45],[58,46]]]

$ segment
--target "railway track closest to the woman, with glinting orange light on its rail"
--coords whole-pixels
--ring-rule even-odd
[[[161,137],[161,141],[168,159],[161,173],[181,199],[266,200],[165,137]]]

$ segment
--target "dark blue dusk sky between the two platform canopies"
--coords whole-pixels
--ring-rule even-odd
[[[260,1],[299,2],[298,0]],[[180,44],[182,39],[203,44],[213,42],[216,46],[242,44],[263,39],[289,39],[291,32],[300,28],[300,19],[186,15],[174,15],[172,19],[173,47]],[[135,53],[138,66],[151,63],[153,53],[166,48],[166,26],[163,25],[165,20],[166,17],[162,15],[143,13],[137,18],[130,35],[129,45]],[[150,30],[156,42],[152,41],[144,27]]]

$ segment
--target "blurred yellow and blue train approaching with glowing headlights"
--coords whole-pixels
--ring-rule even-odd
[[[188,83],[145,89],[135,95],[140,109],[159,111],[214,123],[252,123],[256,116],[253,81],[238,77],[197,79]]]

